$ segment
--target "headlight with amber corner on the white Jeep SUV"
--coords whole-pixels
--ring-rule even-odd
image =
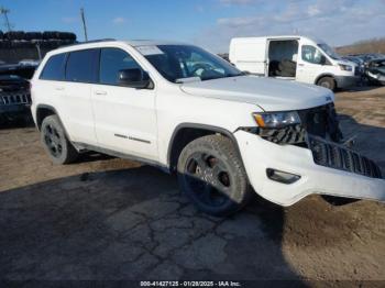
[[[253,113],[256,124],[261,128],[283,128],[299,124],[300,119],[296,111]]]

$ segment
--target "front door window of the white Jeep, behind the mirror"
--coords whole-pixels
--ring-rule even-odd
[[[99,82],[119,85],[119,70],[141,68],[125,51],[120,48],[102,48],[100,52]]]

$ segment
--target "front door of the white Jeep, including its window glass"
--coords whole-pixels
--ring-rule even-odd
[[[142,69],[128,52],[101,48],[99,82],[92,85],[91,92],[99,146],[155,160],[155,89],[120,86],[119,70],[130,68]]]

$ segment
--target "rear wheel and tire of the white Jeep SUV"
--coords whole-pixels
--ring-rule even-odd
[[[68,164],[78,156],[78,152],[66,137],[57,115],[50,115],[43,120],[41,141],[54,164]]]

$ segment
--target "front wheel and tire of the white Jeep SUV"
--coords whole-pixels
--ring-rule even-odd
[[[187,144],[177,170],[180,190],[208,214],[228,215],[251,198],[241,158],[226,136],[208,135]]]

